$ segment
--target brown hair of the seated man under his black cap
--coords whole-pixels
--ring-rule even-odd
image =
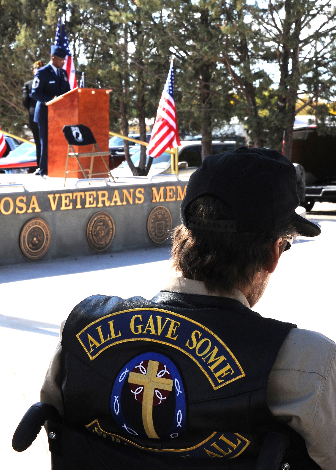
[[[234,220],[232,208],[215,196],[201,196],[188,208],[188,216],[205,220]],[[213,232],[184,225],[173,234],[173,267],[183,277],[203,281],[209,292],[220,294],[245,288],[272,257],[279,237],[297,235],[292,226],[270,233]],[[282,244],[280,254],[284,249]]]

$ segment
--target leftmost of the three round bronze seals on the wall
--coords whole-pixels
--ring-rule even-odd
[[[20,234],[20,248],[29,259],[39,259],[48,251],[51,234],[43,219],[31,219],[24,224]]]

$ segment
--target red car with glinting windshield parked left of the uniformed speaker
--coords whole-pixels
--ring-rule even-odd
[[[36,147],[23,142],[7,157],[0,158],[0,173],[34,172],[36,170]]]

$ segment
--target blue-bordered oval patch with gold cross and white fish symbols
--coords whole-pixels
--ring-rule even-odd
[[[176,439],[185,430],[185,393],[175,364],[157,352],[130,360],[112,389],[111,413],[124,434]]]

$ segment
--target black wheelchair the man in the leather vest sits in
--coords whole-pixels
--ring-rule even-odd
[[[290,439],[283,433],[269,433],[257,458],[227,462],[222,459],[164,458],[132,446],[128,446],[125,453],[121,444],[107,441],[82,428],[67,426],[56,408],[43,402],[35,403],[25,413],[14,433],[13,449],[17,452],[26,450],[46,421],[52,470],[173,470],[176,467],[188,470],[289,470],[283,458]]]

